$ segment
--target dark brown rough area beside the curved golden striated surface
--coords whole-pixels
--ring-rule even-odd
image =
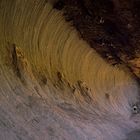
[[[139,0],[59,0],[54,8],[101,57],[140,80]]]

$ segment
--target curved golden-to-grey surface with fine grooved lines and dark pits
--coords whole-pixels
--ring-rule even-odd
[[[0,1],[0,139],[138,140],[139,85],[82,40],[54,1]]]

